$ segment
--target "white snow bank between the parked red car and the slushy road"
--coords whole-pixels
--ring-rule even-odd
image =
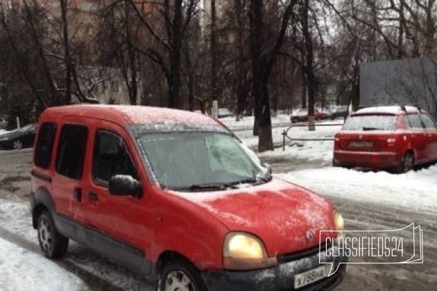
[[[277,176],[321,195],[387,204],[419,213],[437,211],[437,165],[402,175],[322,168]]]

